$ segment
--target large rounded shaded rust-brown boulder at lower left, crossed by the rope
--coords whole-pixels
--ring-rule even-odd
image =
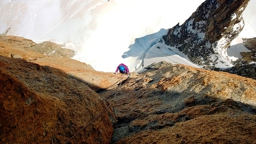
[[[20,58],[0,56],[0,81],[0,143],[64,143],[109,105],[82,80]],[[70,142],[109,143],[112,114]]]

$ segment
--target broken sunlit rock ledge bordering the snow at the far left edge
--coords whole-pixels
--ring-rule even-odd
[[[74,51],[61,48],[52,42],[36,44],[30,39],[18,36],[0,36],[1,52],[5,57],[24,58],[28,61],[47,56],[50,57],[73,57]],[[11,47],[11,48],[10,48]]]

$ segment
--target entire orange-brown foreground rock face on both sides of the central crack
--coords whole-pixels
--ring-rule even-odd
[[[164,61],[129,78],[58,46],[1,37],[0,143],[256,143],[254,79]]]

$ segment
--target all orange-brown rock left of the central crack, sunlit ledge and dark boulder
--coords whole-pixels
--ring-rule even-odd
[[[120,75],[95,71],[58,46],[0,37],[0,143],[64,143],[110,105],[93,90]],[[70,142],[110,143],[113,120],[110,107]]]

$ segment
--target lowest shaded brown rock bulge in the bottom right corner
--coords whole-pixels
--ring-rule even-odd
[[[173,127],[141,132],[117,143],[255,143],[254,123],[255,115],[249,114],[204,115]]]

